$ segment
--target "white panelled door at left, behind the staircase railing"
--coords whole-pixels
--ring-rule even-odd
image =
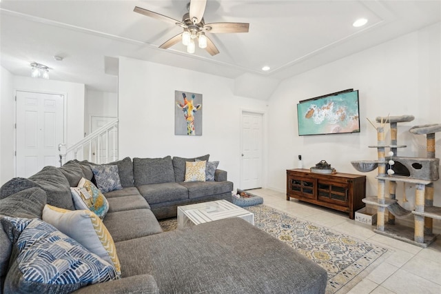
[[[64,95],[17,91],[17,177],[60,166],[64,143]]]

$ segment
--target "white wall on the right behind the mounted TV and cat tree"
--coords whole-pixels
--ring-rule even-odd
[[[426,157],[425,136],[408,130],[441,123],[440,27],[437,23],[283,81],[269,100],[269,188],[285,191],[285,170],[296,168],[297,155],[305,168],[325,159],[339,172],[359,173],[350,161],[377,158],[376,149],[367,147],[376,145],[376,130],[367,117],[414,115],[414,121],[398,124],[398,144],[408,146],[398,155]],[[360,90],[361,132],[299,137],[298,101],[347,88]],[[436,147],[441,157],[440,133]],[[376,174],[365,174],[368,195],[376,195]],[[413,195],[407,196],[413,202]],[[435,205],[441,206],[441,181],[435,182]]]

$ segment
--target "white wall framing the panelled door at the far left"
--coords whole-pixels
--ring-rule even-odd
[[[69,83],[65,81],[53,81],[50,79],[35,79],[32,77],[19,77],[11,74],[5,75],[10,79],[3,81],[3,72],[7,72],[2,68],[1,77],[1,137],[8,138],[8,141],[2,140],[1,148],[1,182],[7,182],[11,177],[14,177],[14,129],[10,130],[10,126],[15,122],[15,102],[11,97],[14,97],[17,90],[27,90],[33,92],[48,92],[52,94],[65,95],[67,105],[66,134],[65,143],[75,144],[83,138],[84,130],[84,84]],[[3,89],[3,84],[8,85]],[[3,95],[3,92],[6,94]],[[10,94],[10,95],[9,95]],[[3,133],[4,132],[4,133]],[[4,165],[4,167],[3,167]]]

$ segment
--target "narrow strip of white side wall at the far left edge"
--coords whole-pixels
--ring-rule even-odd
[[[14,177],[13,76],[0,67],[0,184]]]

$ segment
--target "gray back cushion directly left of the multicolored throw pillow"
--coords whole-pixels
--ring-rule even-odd
[[[45,190],[48,204],[69,210],[75,209],[68,179],[58,168],[45,166],[29,179]]]

